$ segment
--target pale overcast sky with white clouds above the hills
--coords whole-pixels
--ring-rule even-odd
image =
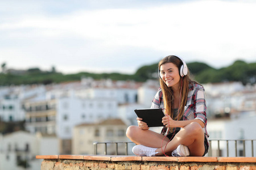
[[[0,2],[0,64],[133,74],[175,54],[215,68],[256,62],[256,1]]]

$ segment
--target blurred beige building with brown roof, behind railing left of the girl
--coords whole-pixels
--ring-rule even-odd
[[[94,124],[81,124],[73,129],[72,154],[93,155],[94,142],[127,142],[127,125],[120,119],[108,119]],[[98,145],[98,154],[104,154],[105,145]],[[118,155],[125,155],[125,144],[118,144]],[[107,153],[115,154],[115,145],[108,144]]]

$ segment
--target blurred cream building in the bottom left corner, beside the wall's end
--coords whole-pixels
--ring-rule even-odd
[[[0,135],[0,170],[40,169],[42,160],[36,155],[56,155],[59,153],[58,139],[42,137],[27,131],[16,131]]]

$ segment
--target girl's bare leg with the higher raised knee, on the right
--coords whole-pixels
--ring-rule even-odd
[[[197,122],[192,122],[191,124],[185,126],[181,129],[175,137],[167,143],[165,152],[167,155],[171,155],[171,152],[177,148],[179,145],[185,145],[189,148],[189,156],[203,156],[204,148],[204,131]],[[162,148],[158,148],[156,156],[162,156]]]

